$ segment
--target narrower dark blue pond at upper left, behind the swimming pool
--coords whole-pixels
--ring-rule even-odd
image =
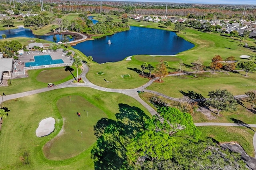
[[[48,40],[51,42],[64,41],[65,38],[68,42],[74,40],[74,38],[69,38],[69,36],[64,36],[64,35],[37,36],[37,35],[34,35],[30,29],[27,29],[27,28],[18,28],[18,29],[0,31],[0,39],[2,39],[2,34],[5,34],[6,38],[14,38],[14,37],[39,38],[39,39]]]

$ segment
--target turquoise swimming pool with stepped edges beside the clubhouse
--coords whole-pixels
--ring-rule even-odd
[[[52,59],[51,55],[36,55],[34,60],[33,62],[26,62],[25,67],[64,63],[62,59]]]

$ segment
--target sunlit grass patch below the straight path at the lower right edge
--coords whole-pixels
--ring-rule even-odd
[[[219,143],[236,142],[248,155],[255,156],[252,139],[256,128],[218,126],[197,128],[202,132],[201,138],[213,138]]]

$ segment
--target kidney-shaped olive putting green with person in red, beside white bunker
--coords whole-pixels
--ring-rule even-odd
[[[44,146],[44,155],[50,160],[71,158],[88,149],[96,140],[92,133],[93,126],[100,118],[107,117],[82,96],[62,97],[57,101],[57,108],[64,120],[64,132]],[[77,113],[81,116],[78,117]]]

